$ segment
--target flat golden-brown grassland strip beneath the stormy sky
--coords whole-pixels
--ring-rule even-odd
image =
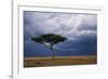
[[[52,60],[52,57],[24,57],[24,67],[87,65],[96,63],[97,63],[96,55],[55,56],[54,60]]]

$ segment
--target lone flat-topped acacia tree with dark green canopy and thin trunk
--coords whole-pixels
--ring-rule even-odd
[[[52,60],[54,60],[54,48],[53,48],[54,44],[64,42],[65,40],[67,40],[67,38],[62,37],[60,35],[45,34],[45,35],[40,35],[38,37],[32,37],[31,40],[51,49],[51,51],[53,52]]]

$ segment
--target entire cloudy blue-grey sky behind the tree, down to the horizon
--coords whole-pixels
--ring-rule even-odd
[[[96,54],[97,17],[84,13],[24,11],[24,55],[51,56],[52,51],[31,41],[42,34],[57,34],[68,41],[56,44],[56,55]]]

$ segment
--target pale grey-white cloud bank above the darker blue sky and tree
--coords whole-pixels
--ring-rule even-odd
[[[75,36],[96,34],[96,15],[26,11],[24,12],[24,25],[25,31],[36,36],[38,32],[52,32],[72,40]]]

